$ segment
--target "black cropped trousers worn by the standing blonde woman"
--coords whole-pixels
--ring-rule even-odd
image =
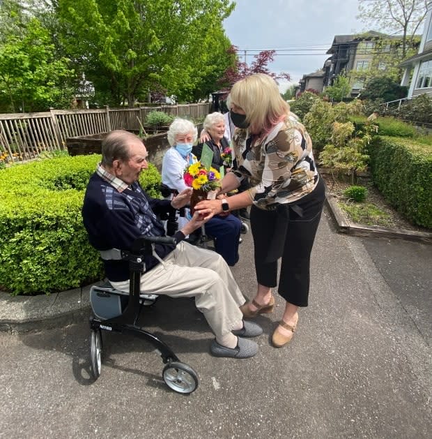
[[[280,204],[275,211],[252,206],[256,280],[277,285],[277,261],[281,258],[278,292],[286,302],[307,306],[312,246],[321,219],[325,186],[319,179],[314,191],[295,205]]]

